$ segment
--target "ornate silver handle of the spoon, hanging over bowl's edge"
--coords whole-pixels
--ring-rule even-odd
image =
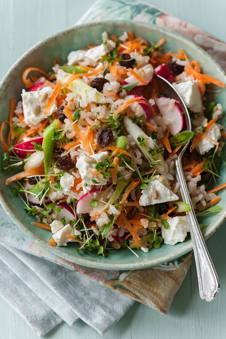
[[[188,203],[191,207],[190,210],[186,212],[186,215],[194,250],[199,293],[202,299],[212,301],[220,289],[220,283],[194,213],[182,170],[181,156],[182,154],[180,154],[175,160],[175,171],[183,201]]]

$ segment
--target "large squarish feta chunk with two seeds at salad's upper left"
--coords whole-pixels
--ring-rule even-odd
[[[43,94],[47,93],[48,97],[42,101]],[[53,93],[53,89],[50,86],[43,87],[38,91],[26,92],[25,89],[22,89],[22,104],[23,104],[23,115],[24,121],[27,125],[29,124],[38,124],[42,119],[46,118],[44,115],[45,107],[48,102],[49,97]],[[40,106],[40,113],[36,116],[33,112],[34,106]],[[52,115],[57,111],[57,106],[54,103],[50,108],[49,115]]]

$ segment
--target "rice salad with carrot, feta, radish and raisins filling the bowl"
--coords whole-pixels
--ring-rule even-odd
[[[24,213],[50,232],[51,246],[70,242],[106,257],[113,249],[138,256],[134,249],[183,242],[190,206],[182,201],[174,161],[188,141],[183,170],[196,216],[222,210],[215,204],[226,186],[217,186],[226,164],[218,120],[224,112],[207,102],[205,91],[225,85],[202,74],[183,49],[165,52],[165,41],[103,32],[100,45],[72,51],[63,65],[55,59],[49,73],[24,71],[22,99],[11,100],[0,128],[1,170],[14,171],[6,185],[14,183]],[[181,95],[193,131],[185,130],[177,102],[159,93],[155,74]]]

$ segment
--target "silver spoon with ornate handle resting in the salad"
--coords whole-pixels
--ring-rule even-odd
[[[169,83],[166,79],[161,76],[155,76],[156,82],[159,88],[159,92],[161,94],[167,93],[167,97],[175,99],[179,102],[181,106],[182,112],[184,112],[184,120],[187,131],[191,131],[191,119],[185,106],[184,101],[182,100],[179,93],[175,90],[175,88]],[[194,209],[192,207],[191,198],[188,193],[187,184],[184,178],[181,159],[182,156],[188,147],[189,142],[184,145],[178,154],[178,158],[175,160],[175,172],[176,178],[180,185],[181,195],[183,201],[190,205],[190,210],[186,212],[188,224],[190,228],[191,240],[194,250],[194,257],[196,263],[196,270],[198,276],[199,283],[199,294],[202,299],[206,301],[212,301],[215,295],[218,293],[220,289],[220,283],[218,279],[218,275],[216,274],[216,270],[213,266],[213,262],[210,258],[209,252],[207,250],[206,244],[204,242],[202,233],[200,231],[199,224],[197,222]]]

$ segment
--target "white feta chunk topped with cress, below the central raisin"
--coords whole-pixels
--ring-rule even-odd
[[[108,152],[101,152],[94,155],[90,155],[90,157],[94,158],[98,162],[104,161],[106,158],[109,158]],[[93,163],[87,163],[84,161],[85,157],[78,158],[76,167],[80,173],[82,180],[86,181],[89,185],[106,185],[107,179],[104,179],[101,174],[94,174],[92,172],[96,172],[95,166],[97,161]],[[92,180],[97,181],[97,183],[93,183]]]

